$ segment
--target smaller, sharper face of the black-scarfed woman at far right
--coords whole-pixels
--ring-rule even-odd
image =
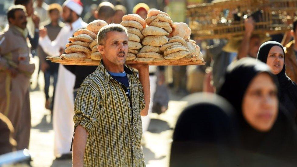
[[[281,72],[284,67],[285,55],[281,47],[273,46],[271,47],[266,64],[271,68],[274,75]]]

